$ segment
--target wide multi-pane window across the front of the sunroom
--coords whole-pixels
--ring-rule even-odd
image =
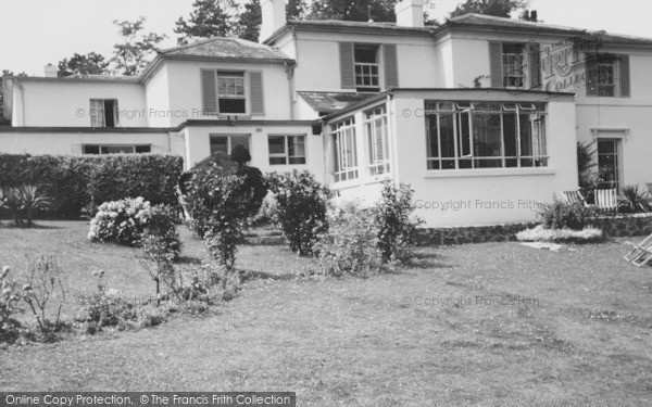
[[[426,102],[428,169],[547,167],[546,105]]]

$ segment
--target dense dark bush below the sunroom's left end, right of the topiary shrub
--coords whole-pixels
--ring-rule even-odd
[[[268,185],[277,202],[277,221],[290,249],[304,256],[313,254],[319,234],[328,230],[326,203],[333,192],[308,170],[272,173]]]

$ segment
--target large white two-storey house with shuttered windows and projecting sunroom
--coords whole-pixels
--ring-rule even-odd
[[[577,188],[577,141],[607,187],[652,182],[652,40],[467,14],[423,24],[286,21],[262,43],[159,53],[138,78],[13,78],[0,151],[168,152],[186,165],[242,143],[263,171],[309,169],[342,199],[390,177],[430,227],[528,221]]]

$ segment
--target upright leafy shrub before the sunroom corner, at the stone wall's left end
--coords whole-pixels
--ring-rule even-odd
[[[376,204],[376,224],[378,225],[378,246],[383,263],[403,260],[411,256],[410,247],[416,239],[418,219],[411,219],[414,212],[410,186],[397,187],[390,179],[383,183],[383,192]]]

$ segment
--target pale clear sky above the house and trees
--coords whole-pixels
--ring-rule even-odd
[[[178,17],[187,17],[193,0],[0,0],[0,72],[43,75],[77,53],[98,52],[106,58],[120,36],[114,20],[146,16],[146,30],[166,34],[165,47],[176,44]],[[443,21],[461,0],[434,0],[432,16]],[[604,29],[652,38],[649,0],[531,0],[539,20],[548,24]]]

